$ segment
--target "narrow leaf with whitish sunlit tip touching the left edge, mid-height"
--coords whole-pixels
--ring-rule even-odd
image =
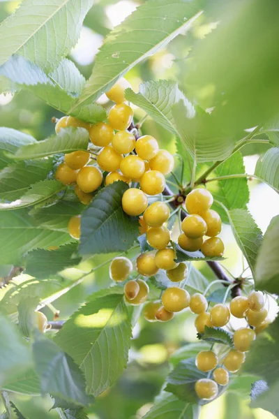
[[[41,180],[33,184],[24,195],[11,203],[0,203],[0,210],[15,210],[42,203],[65,189],[63,183],[56,180]]]

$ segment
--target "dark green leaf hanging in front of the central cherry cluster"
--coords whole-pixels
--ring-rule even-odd
[[[138,219],[123,212],[121,205],[127,189],[124,182],[105,186],[84,210],[80,238],[82,255],[125,251],[137,240]]]

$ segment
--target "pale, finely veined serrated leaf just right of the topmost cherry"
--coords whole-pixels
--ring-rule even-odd
[[[139,106],[150,115],[154,121],[162,125],[167,131],[179,137],[172,116],[172,106],[179,100],[183,100],[188,108],[188,115],[194,115],[195,109],[188,102],[176,82],[173,80],[150,81],[140,84],[140,92],[135,93],[132,89],[126,89],[126,99]]]

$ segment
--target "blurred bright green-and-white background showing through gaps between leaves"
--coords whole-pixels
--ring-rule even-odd
[[[0,0],[0,20],[13,13],[19,1]],[[86,17],[80,41],[70,54],[75,64],[86,78],[91,73],[93,59],[98,52],[98,47],[103,42],[104,36],[114,26],[122,22],[140,4],[130,0],[99,0],[96,1],[89,15]],[[126,78],[130,81],[135,91],[138,91],[141,82],[146,80],[160,79],[179,79],[181,88],[187,95],[187,85],[183,84],[181,77],[181,62],[186,59],[190,50],[190,40],[202,38],[216,24],[204,24],[202,18],[195,24],[187,37],[179,36],[167,49],[160,50],[153,57],[150,57],[142,64],[137,65],[131,70]],[[200,100],[205,99],[211,94],[214,86],[207,86],[206,89],[197,91],[196,96]],[[99,99],[103,105],[107,103],[105,96]],[[140,109],[135,108],[135,117],[140,119],[143,116]],[[52,117],[60,117],[59,112],[45,105],[35,96],[22,91],[17,95],[0,95],[0,125],[16,128],[20,131],[30,133],[38,140],[47,138],[54,133],[54,126],[51,122]],[[176,151],[175,139],[151,119],[147,119],[143,126],[143,133],[149,133],[156,137],[161,147]],[[243,149],[246,171],[250,174],[254,172],[255,164],[259,153],[265,151],[264,146],[258,149]],[[247,155],[246,155],[247,154]],[[257,222],[258,226],[265,232],[273,216],[278,214],[279,199],[273,189],[266,184],[259,184],[257,181],[249,181],[250,203],[248,209]],[[177,235],[177,228],[174,226],[173,235]],[[246,262],[241,256],[232,235],[231,228],[225,225],[221,237],[225,242],[226,252],[224,261],[225,267],[235,276],[240,275],[246,267]],[[133,256],[133,255],[132,255]],[[80,266],[81,270],[90,270],[92,266],[98,265],[105,258],[92,258],[86,260]],[[211,271],[204,263],[196,263],[196,267],[202,270],[206,277],[213,278]],[[63,272],[66,278],[75,279],[78,277],[79,270],[71,269]],[[249,277],[249,270],[246,271]],[[54,302],[55,309],[60,310],[61,319],[66,319],[73,313],[80,304],[84,302],[86,295],[100,288],[110,285],[107,266],[98,270],[96,274],[87,277],[84,283],[73,288],[69,293],[63,295]],[[276,314],[276,306],[272,299],[269,304],[272,315]],[[52,320],[52,311],[45,308],[45,314]],[[148,411],[153,402],[153,398],[158,395],[163,385],[164,378],[169,371],[168,358],[177,348],[187,342],[196,341],[196,333],[193,325],[194,316],[188,310],[176,316],[175,320],[167,323],[147,323],[140,318],[134,330],[133,346],[130,351],[128,368],[123,376],[115,383],[112,388],[106,390],[97,397],[96,405],[89,413],[90,419],[141,419]],[[82,319],[81,319],[82,321]],[[113,366],[112,366],[113,367]],[[14,396],[16,405],[24,416],[31,419],[58,418],[55,411],[48,412],[52,406],[49,398],[26,397],[21,395]],[[13,399],[13,397],[12,397]],[[271,419],[275,416],[262,409],[250,409],[249,399],[239,397],[233,392],[223,395],[215,402],[204,406],[201,419]],[[0,409],[0,413],[1,413]],[[46,413],[47,412],[47,413]]]

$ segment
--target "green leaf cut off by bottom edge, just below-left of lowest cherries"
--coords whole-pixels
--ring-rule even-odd
[[[144,419],[199,419],[199,406],[182,402],[163,391],[156,397]]]

